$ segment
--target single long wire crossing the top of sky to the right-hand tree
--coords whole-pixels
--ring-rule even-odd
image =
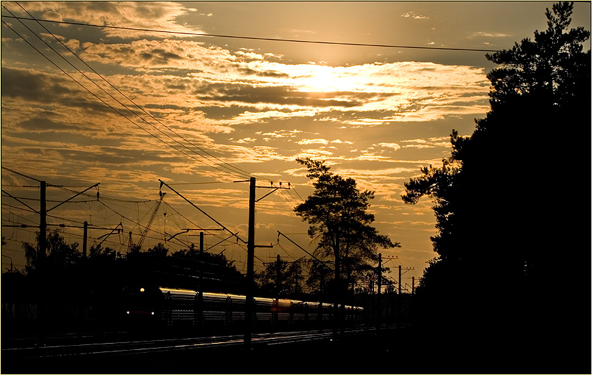
[[[246,40],[265,40],[270,42],[294,42],[294,43],[308,43],[317,45],[343,45],[352,47],[384,47],[384,48],[400,48],[400,49],[435,49],[440,51],[474,51],[474,52],[497,52],[497,49],[477,49],[477,48],[452,48],[452,47],[423,47],[423,46],[410,46],[410,45],[379,45],[370,43],[350,43],[350,42],[327,42],[323,40],[297,40],[297,39],[282,39],[282,38],[260,38],[253,36],[244,35],[225,35],[225,34],[209,34],[209,33],[193,33],[189,31],[169,31],[169,30],[157,30],[157,29],[141,29],[135,27],[125,26],[109,26],[109,25],[94,25],[94,24],[83,24],[81,22],[66,22],[66,21],[54,21],[49,19],[36,19],[27,17],[17,17],[3,15],[2,17],[15,18],[15,19],[26,19],[29,21],[39,22],[52,22],[55,24],[70,24],[76,26],[90,26],[99,27],[102,29],[118,29],[118,30],[130,30],[130,31],[143,31],[148,33],[166,33],[176,35],[192,35],[192,36],[209,36],[215,38],[233,38],[233,39],[246,39]]]

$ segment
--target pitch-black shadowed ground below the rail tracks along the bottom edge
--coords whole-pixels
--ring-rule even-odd
[[[425,334],[425,332],[424,332]],[[1,358],[2,374],[589,374],[590,355],[532,351],[505,345],[426,337],[412,328],[366,330],[283,344],[254,342],[251,349],[214,346],[150,353],[53,358]],[[555,343],[556,344],[556,343]],[[542,345],[538,348],[544,347]]]

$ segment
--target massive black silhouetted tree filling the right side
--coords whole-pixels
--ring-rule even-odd
[[[582,51],[589,31],[568,29],[571,14],[572,3],[555,4],[535,40],[487,55],[501,65],[488,74],[491,111],[476,120],[472,136],[453,131],[451,157],[442,167],[422,168],[402,196],[410,204],[422,196],[435,202],[438,256],[418,289],[432,301],[426,319],[464,327],[467,340],[487,321],[488,348],[496,350],[515,344],[533,356],[553,350],[577,356],[574,346],[543,345],[576,342],[569,332],[577,327],[547,325],[590,314],[589,268],[575,267],[570,276],[585,285],[581,295],[552,282],[563,249],[577,252],[589,232],[569,183],[586,170],[589,189],[590,51]],[[568,140],[569,128],[586,136]],[[588,207],[589,197],[582,199]],[[588,264],[585,247],[579,258]],[[517,341],[506,340],[518,332]]]

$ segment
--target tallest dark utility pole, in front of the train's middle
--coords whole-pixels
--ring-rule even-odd
[[[244,346],[251,347],[253,321],[253,282],[255,269],[255,177],[249,179],[249,234],[247,238],[247,301],[244,314]]]

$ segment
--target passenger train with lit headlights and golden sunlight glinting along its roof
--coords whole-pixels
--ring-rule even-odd
[[[243,325],[247,296],[212,292],[203,292],[200,296],[191,289],[146,286],[123,289],[122,301],[130,326],[231,328]],[[345,325],[364,322],[364,308],[345,305],[342,312]],[[254,297],[251,324],[272,329],[318,327],[328,326],[333,316],[331,303]]]

